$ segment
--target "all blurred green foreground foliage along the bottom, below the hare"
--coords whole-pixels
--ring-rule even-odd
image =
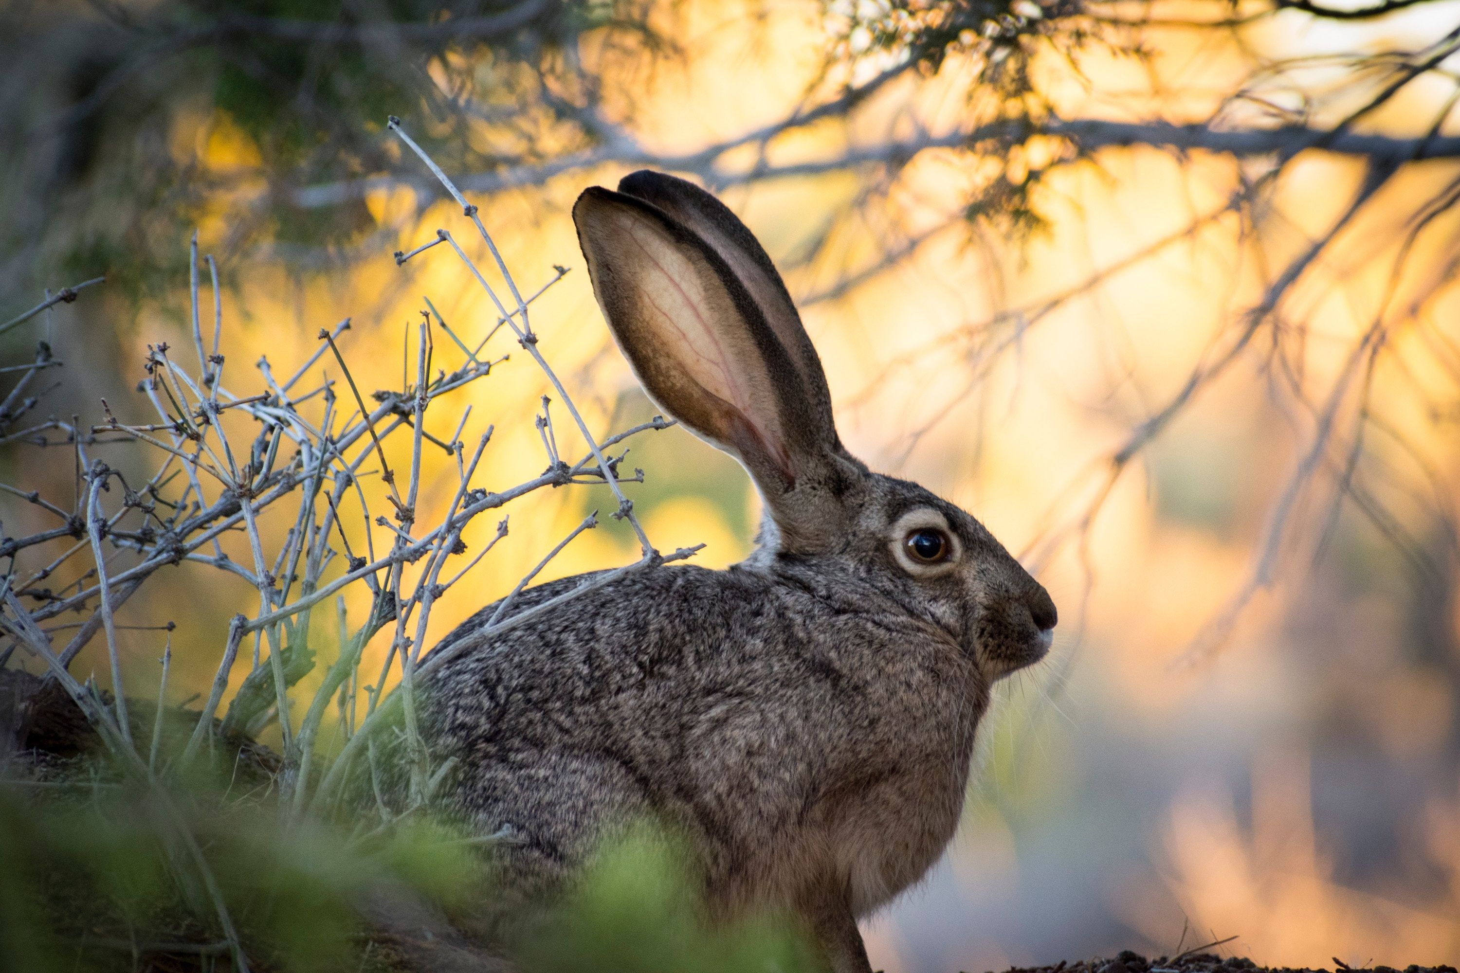
[[[38,778],[0,783],[3,970],[133,970],[162,957],[165,969],[229,969],[213,893],[178,861],[181,829],[254,969],[399,969],[362,902],[409,899],[473,928],[495,899],[489,845],[442,818],[288,817],[267,779],[245,789],[228,775],[193,775],[164,794],[121,782],[99,756]],[[514,961],[524,973],[818,969],[778,916],[708,925],[685,861],[661,831],[629,830],[531,926]]]

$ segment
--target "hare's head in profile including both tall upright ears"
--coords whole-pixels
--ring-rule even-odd
[[[821,359],[771,258],[698,187],[635,172],[572,210],[593,290],[645,391],[750,473],[752,562],[873,584],[990,680],[1044,656],[1048,592],[972,516],[841,445]]]

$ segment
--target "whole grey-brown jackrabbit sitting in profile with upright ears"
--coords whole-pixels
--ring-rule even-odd
[[[512,836],[508,884],[561,887],[648,817],[685,836],[714,916],[790,910],[828,969],[867,973],[857,918],[952,837],[990,687],[1044,656],[1054,602],[972,516],[847,452],[790,293],[726,206],[644,171],[572,214],[639,382],[755,480],[758,547],[453,652],[485,608],[435,649],[423,729],[473,826]]]

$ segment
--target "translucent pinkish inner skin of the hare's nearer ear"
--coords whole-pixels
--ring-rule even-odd
[[[657,344],[650,353],[672,357],[679,371],[734,408],[739,423],[731,422],[733,436],[748,435],[749,439],[729,445],[743,457],[768,457],[788,481],[794,481],[775,394],[730,296],[711,295],[710,287],[715,283],[707,280],[708,270],[695,267],[680,245],[657,226],[631,213],[618,213],[615,220],[628,238],[625,247],[635,251],[634,260],[626,263],[641,274],[637,283],[645,324]],[[736,430],[740,423],[743,432]]]

